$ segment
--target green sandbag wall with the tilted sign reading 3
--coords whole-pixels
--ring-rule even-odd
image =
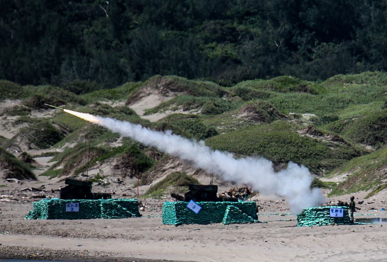
[[[257,219],[255,202],[198,202],[202,207],[196,214],[187,202],[164,202],[163,224],[252,223]]]

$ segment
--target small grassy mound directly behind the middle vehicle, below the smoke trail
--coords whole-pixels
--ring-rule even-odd
[[[156,185],[149,188],[145,195],[149,195],[149,197],[159,197],[164,194],[168,187],[183,187],[180,190],[184,191],[187,189],[188,184],[191,183],[199,184],[199,181],[186,173],[173,172],[160,182],[156,183]]]

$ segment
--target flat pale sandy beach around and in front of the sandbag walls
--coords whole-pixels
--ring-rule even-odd
[[[32,201],[20,197],[5,201],[3,197],[0,257],[219,262],[387,259],[387,224],[296,227],[296,216],[286,211],[285,201],[259,196],[254,198],[262,210],[258,218],[266,223],[162,225],[162,204],[166,200],[171,201],[142,199],[147,208],[139,218],[74,221],[26,220]],[[381,203],[378,196],[373,200],[363,204],[360,212],[368,217],[386,217],[376,209]]]

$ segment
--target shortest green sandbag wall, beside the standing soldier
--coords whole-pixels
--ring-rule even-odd
[[[343,217],[331,217],[330,209],[344,209]],[[326,206],[326,207],[310,207],[304,209],[297,216],[297,226],[327,226],[332,224],[349,225],[348,207],[347,206]]]

